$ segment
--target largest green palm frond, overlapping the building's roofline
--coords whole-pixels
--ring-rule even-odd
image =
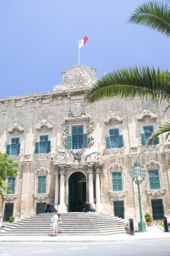
[[[167,70],[155,70],[153,67],[130,67],[110,72],[98,79],[86,92],[86,101],[94,102],[113,96],[153,101],[169,100],[170,79]]]

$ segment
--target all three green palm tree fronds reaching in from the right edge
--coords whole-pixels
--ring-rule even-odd
[[[167,37],[170,36],[170,7],[167,4],[149,2],[137,7],[130,16],[129,23],[142,24],[157,30]],[[94,102],[113,96],[134,98],[140,96],[142,99],[150,97],[157,103],[170,98],[170,73],[168,70],[160,70],[149,67],[130,67],[110,72],[98,81],[87,91],[86,101]],[[157,135],[170,134],[170,123],[154,132],[149,138],[148,145]]]

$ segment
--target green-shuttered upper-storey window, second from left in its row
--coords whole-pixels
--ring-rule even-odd
[[[35,154],[49,153],[51,151],[51,141],[48,135],[40,135],[40,141],[35,143]]]

